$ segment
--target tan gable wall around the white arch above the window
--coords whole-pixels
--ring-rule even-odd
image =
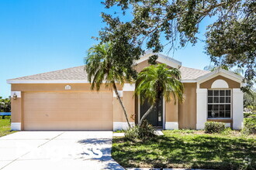
[[[240,88],[240,83],[230,80],[224,76],[215,76],[213,79],[207,80],[203,83],[200,83],[200,88],[210,89],[215,80],[225,80],[229,86],[229,88]]]

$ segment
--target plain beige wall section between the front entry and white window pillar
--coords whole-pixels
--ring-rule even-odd
[[[178,128],[196,128],[196,83],[183,83],[183,103],[178,104]]]

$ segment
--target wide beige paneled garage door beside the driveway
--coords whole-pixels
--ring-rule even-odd
[[[24,130],[112,130],[112,93],[24,93]]]

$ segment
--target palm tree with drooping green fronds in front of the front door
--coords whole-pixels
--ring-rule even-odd
[[[165,64],[147,66],[139,73],[135,93],[140,95],[142,103],[147,100],[151,104],[144,116],[141,117],[139,126],[153,110],[154,105],[161,100],[161,97],[168,102],[172,95],[175,104],[177,99],[183,100],[184,87],[180,79],[180,71],[175,68],[168,69]]]

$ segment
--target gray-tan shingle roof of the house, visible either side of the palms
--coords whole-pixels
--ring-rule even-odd
[[[87,80],[87,73],[84,70],[85,66],[76,66],[64,70],[51,71],[47,73],[39,73],[32,76],[22,76],[12,80]],[[199,76],[206,75],[209,71],[197,70],[182,66],[182,80],[195,80]],[[8,80],[8,81],[12,81]]]

